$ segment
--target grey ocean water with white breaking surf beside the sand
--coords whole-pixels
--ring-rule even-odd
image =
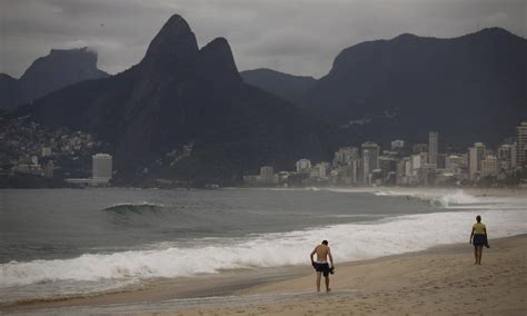
[[[527,197],[418,189],[0,190],[0,303],[527,233]]]

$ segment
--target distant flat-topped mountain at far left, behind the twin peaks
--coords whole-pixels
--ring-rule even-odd
[[[109,75],[97,68],[97,52],[87,47],[51,49],[34,60],[20,79],[0,73],[0,109],[12,108],[51,91]]]

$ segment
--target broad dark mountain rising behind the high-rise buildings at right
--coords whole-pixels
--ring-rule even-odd
[[[437,129],[444,141],[499,142],[527,119],[526,56],[527,40],[499,28],[361,42],[344,49],[296,105],[378,141],[416,140]]]

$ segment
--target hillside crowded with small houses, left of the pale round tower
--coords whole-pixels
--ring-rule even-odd
[[[83,131],[49,128],[23,117],[0,120],[0,176],[53,179],[89,175],[89,159],[105,148]]]

